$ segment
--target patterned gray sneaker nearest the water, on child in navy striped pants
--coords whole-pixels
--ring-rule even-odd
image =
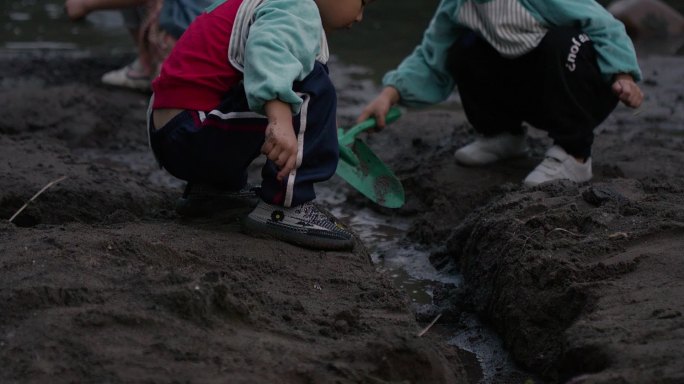
[[[259,201],[243,221],[245,232],[273,237],[306,248],[348,250],[354,247],[351,232],[314,203],[280,207]]]

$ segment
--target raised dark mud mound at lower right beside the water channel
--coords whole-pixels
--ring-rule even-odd
[[[683,187],[684,180],[668,188],[615,180],[509,193],[469,216],[448,241],[469,282],[463,297],[518,359],[549,377],[607,368],[587,382],[623,371],[631,378],[672,375],[676,348],[656,353],[641,344],[684,342],[677,310],[684,286],[673,284],[684,272],[676,263],[684,245]],[[666,292],[656,295],[658,289]],[[630,337],[617,339],[621,331]]]

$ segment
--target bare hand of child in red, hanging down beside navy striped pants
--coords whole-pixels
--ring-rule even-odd
[[[268,126],[261,153],[278,166],[276,178],[283,181],[297,165],[297,138],[292,127],[290,105],[279,100],[266,103]]]

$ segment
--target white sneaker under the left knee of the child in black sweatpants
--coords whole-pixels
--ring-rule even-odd
[[[463,165],[487,165],[499,160],[527,155],[527,136],[508,132],[493,137],[478,137],[454,153]]]

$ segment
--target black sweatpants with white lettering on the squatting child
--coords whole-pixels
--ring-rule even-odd
[[[596,128],[618,98],[601,76],[589,37],[575,28],[549,30],[531,52],[501,56],[474,32],[449,54],[466,116],[485,136],[522,133],[522,123],[548,132],[569,154],[587,158]]]

